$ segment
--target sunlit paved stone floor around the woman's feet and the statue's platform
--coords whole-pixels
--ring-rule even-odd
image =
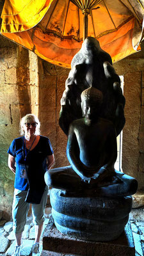
[[[44,234],[45,227],[49,222],[51,216],[51,208],[45,209],[45,222],[42,234]],[[129,216],[131,221],[132,234],[134,237],[134,244],[136,249],[136,256],[144,255],[144,208],[132,209]],[[12,221],[0,221],[0,256],[12,256],[13,249],[15,247],[15,237],[12,231]],[[35,239],[35,227],[32,222],[31,215],[28,216],[26,227],[23,233],[23,249],[21,250],[21,256],[31,255],[32,246]],[[42,250],[42,241],[41,241]],[[59,253],[51,254],[59,255]],[[61,255],[64,256],[64,255]],[[66,255],[65,255],[66,256]],[[67,255],[72,256],[72,255]]]

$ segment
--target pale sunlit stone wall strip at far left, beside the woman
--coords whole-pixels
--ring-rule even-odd
[[[8,170],[10,142],[19,136],[19,95],[17,92],[17,47],[0,48],[0,208],[10,215],[13,195],[13,173]]]

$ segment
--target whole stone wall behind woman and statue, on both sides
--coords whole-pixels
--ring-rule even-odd
[[[126,123],[123,131],[122,168],[138,179],[144,191],[144,49],[114,64],[124,76]],[[70,70],[54,66],[33,52],[0,36],[0,209],[11,216],[14,175],[7,166],[8,147],[19,137],[20,118],[33,113],[40,118],[41,134],[54,148],[54,167],[68,165],[67,137],[58,124],[60,99]]]

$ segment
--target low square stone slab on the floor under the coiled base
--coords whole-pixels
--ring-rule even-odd
[[[131,224],[127,223],[124,232],[118,239],[105,243],[84,241],[63,235],[57,230],[51,218],[44,232],[42,256],[63,256],[65,254],[78,256],[134,256],[135,249]]]

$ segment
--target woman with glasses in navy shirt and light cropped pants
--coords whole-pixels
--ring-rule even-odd
[[[12,216],[16,246],[13,256],[20,255],[29,203],[32,204],[35,223],[33,255],[40,255],[40,235],[47,202],[44,174],[54,164],[54,154],[49,138],[40,135],[40,122],[35,115],[28,114],[20,120],[20,135],[23,136],[13,140],[8,149],[8,167],[15,174]]]

